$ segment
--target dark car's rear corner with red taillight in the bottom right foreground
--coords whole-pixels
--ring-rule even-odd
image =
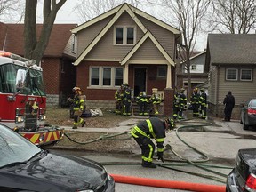
[[[228,174],[226,191],[256,191],[256,148],[238,150],[235,167]]]

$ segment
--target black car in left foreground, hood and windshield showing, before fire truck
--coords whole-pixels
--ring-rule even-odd
[[[115,181],[99,163],[52,154],[0,124],[0,191],[113,192]]]

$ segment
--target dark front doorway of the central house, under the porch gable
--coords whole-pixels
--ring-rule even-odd
[[[147,68],[135,68],[134,70],[134,97],[140,92],[146,92],[146,72]]]

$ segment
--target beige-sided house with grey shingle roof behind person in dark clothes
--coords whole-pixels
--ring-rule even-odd
[[[209,34],[205,68],[209,73],[209,109],[223,116],[223,100],[228,91],[240,104],[256,97],[256,34]]]

